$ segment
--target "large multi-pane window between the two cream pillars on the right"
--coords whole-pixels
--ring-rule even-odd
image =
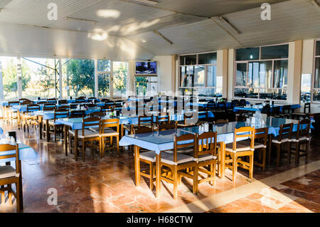
[[[234,96],[287,100],[288,49],[285,44],[235,50]]]

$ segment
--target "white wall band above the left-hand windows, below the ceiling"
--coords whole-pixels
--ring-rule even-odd
[[[146,60],[154,54],[127,38],[10,23],[0,24],[0,55]]]

